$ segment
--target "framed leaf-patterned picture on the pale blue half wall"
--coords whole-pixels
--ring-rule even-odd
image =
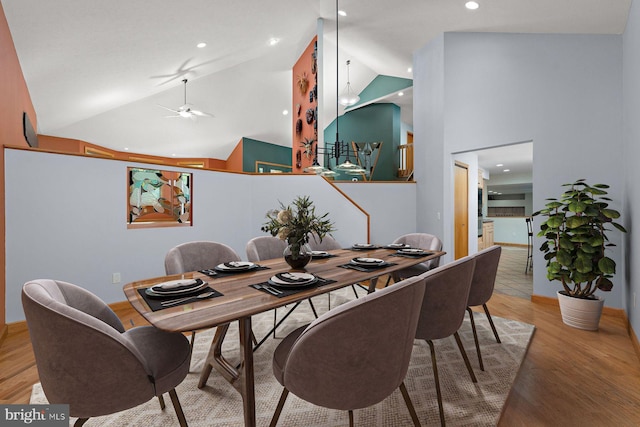
[[[128,228],[191,225],[190,173],[130,167],[127,179]]]

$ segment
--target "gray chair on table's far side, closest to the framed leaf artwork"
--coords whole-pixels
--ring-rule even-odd
[[[240,261],[240,257],[224,243],[198,240],[182,243],[167,252],[164,257],[164,271],[167,275],[182,274],[190,271],[213,268],[218,264],[230,261]],[[229,325],[220,325],[216,334],[226,335]],[[196,331],[191,332],[191,347],[196,339]]]

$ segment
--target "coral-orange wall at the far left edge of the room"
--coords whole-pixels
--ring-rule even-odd
[[[26,112],[37,129],[36,112],[31,103],[31,97],[27,90],[27,84],[22,75],[18,54],[13,45],[13,38],[9,31],[9,25],[4,15],[4,9],[0,4],[0,145],[18,145],[27,147],[22,130],[22,114]],[[5,211],[4,198],[4,149],[0,151],[0,210]],[[0,247],[0,342],[7,333],[5,311],[5,221],[4,214],[0,222],[0,235],[2,246]]]

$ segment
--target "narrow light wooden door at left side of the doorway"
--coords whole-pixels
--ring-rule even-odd
[[[469,169],[458,162],[454,169],[454,254],[459,259],[469,254]]]

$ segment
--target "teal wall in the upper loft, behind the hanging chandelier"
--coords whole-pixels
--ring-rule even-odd
[[[400,145],[400,107],[395,104],[371,104],[345,113],[339,119],[340,140],[349,144],[356,142],[382,142],[372,181],[395,181],[398,171],[398,145]],[[336,121],[324,130],[327,149],[336,140]],[[341,157],[341,162],[346,156]],[[351,153],[351,161],[356,162]],[[331,165],[335,170],[335,159],[325,157],[325,166]],[[338,171],[336,171],[338,172]],[[362,178],[357,176],[360,180]],[[351,181],[353,175],[338,172],[337,181]]]

